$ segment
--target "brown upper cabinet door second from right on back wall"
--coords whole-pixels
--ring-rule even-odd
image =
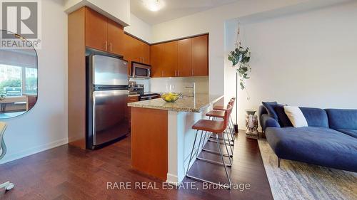
[[[178,60],[176,76],[191,76],[191,38],[177,41],[177,55]]]

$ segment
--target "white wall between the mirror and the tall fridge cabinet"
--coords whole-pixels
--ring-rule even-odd
[[[26,114],[8,123],[8,152],[0,163],[66,144],[67,17],[62,0],[42,1],[39,54],[39,100]]]

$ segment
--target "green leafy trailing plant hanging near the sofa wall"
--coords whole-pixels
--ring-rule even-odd
[[[249,74],[251,73],[251,65],[249,65],[249,60],[251,60],[251,50],[238,46],[234,51],[231,51],[228,55],[228,60],[232,62],[233,67],[237,68],[239,75],[239,85],[241,89],[246,89],[246,79],[249,79]]]

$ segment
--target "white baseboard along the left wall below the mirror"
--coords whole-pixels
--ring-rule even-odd
[[[5,156],[4,159],[1,159],[0,164],[4,164],[6,162],[11,162],[16,159],[21,159],[24,157],[28,157],[32,154],[36,154],[39,152],[44,152],[48,149],[53,149],[54,147],[59,147],[61,145],[68,144],[68,138],[64,138],[62,140],[57,140],[54,142],[50,142],[48,144],[40,145],[37,147],[31,147],[29,149],[24,149],[21,152],[16,152],[14,154],[9,154],[8,156]]]

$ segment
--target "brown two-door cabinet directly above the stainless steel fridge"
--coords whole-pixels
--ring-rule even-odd
[[[86,47],[117,55],[124,53],[124,28],[86,7]]]

